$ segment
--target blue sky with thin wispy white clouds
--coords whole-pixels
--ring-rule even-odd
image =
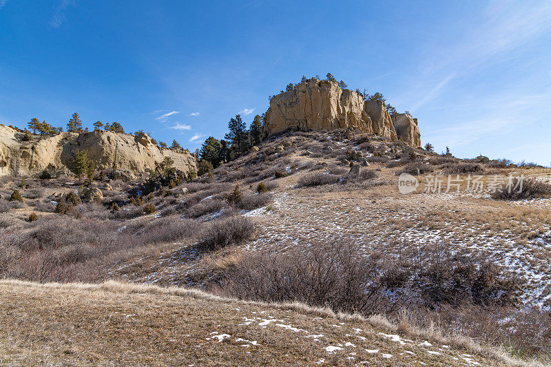
[[[550,165],[549,0],[0,0],[0,123],[79,112],[194,150],[327,72],[437,151]]]

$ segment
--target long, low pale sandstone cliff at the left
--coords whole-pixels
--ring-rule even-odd
[[[112,168],[143,173],[155,169],[165,159],[174,160],[174,167],[187,172],[196,169],[193,154],[185,149],[163,149],[154,145],[147,134],[114,132],[63,132],[42,140],[22,141],[17,130],[0,124],[0,175],[38,176],[71,174],[74,156],[87,151],[96,162],[96,169]]]

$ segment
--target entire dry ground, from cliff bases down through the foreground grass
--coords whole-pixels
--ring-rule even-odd
[[[418,182],[406,195],[398,185],[402,174],[412,175],[406,177]],[[507,196],[497,192],[496,187],[505,188],[509,177],[520,176],[526,179],[521,193]],[[435,190],[437,177],[441,178],[440,190]],[[459,179],[459,184],[451,185],[457,181],[448,182],[448,178]],[[483,185],[473,189],[475,178]],[[67,177],[4,177],[0,180],[2,277],[32,282],[123,281],[137,288],[112,287],[130,287],[145,294],[125,295],[107,291],[105,286],[104,291],[91,292],[97,285],[81,286],[91,292],[81,294],[83,288],[73,285],[7,281],[2,284],[6,289],[3,304],[17,300],[18,306],[9,312],[21,312],[19,320],[43,309],[52,322],[67,325],[58,331],[48,326],[52,328],[48,334],[60,336],[43,340],[43,348],[33,360],[61,358],[62,340],[98,340],[97,347],[75,346],[63,353],[67,364],[77,364],[71,358],[90,350],[101,353],[96,352],[97,359],[87,359],[88,363],[101,361],[102,356],[116,352],[99,346],[99,341],[112,346],[119,337],[128,350],[118,357],[121,361],[128,358],[124,363],[153,363],[146,359],[152,356],[176,363],[171,359],[176,353],[173,347],[149,344],[142,339],[143,333],[158,340],[182,341],[178,346],[184,351],[180,353],[190,364],[205,364],[207,358],[214,364],[222,358],[220,346],[227,348],[231,361],[240,361],[242,355],[232,353],[247,348],[245,354],[250,351],[249,357],[258,358],[251,361],[255,364],[271,360],[271,355],[284,364],[312,364],[320,359],[331,365],[359,364],[373,358],[385,365],[414,361],[455,365],[469,363],[462,358],[471,358],[462,356],[465,354],[476,355],[472,358],[479,364],[503,364],[503,359],[479,354],[495,349],[522,359],[519,363],[535,359],[543,364],[549,361],[551,350],[551,189],[546,183],[550,178],[550,169],[535,165],[484,156],[461,160],[344,129],[276,134],[258,149],[196,180],[170,186],[150,187],[145,179],[98,178],[87,184]],[[21,192],[22,202],[7,200],[14,190]],[[101,197],[86,202],[90,190],[100,191]],[[37,214],[36,220],[30,220],[32,213]],[[146,290],[139,284],[155,287]],[[185,297],[168,297],[161,296],[165,291],[156,286],[201,289],[248,301],[302,302],[368,318],[384,314],[400,326],[380,328],[355,319],[337,321],[327,314],[318,315],[321,320],[310,317],[309,324],[301,321],[302,316],[287,315],[284,306],[269,311],[273,308],[218,298],[208,302],[194,298],[195,307],[185,298],[196,294],[194,291],[178,291]],[[31,293],[38,298],[30,297]],[[52,311],[59,309],[64,312]],[[113,315],[112,324],[99,323],[101,317],[86,319],[90,313],[105,315],[102,317],[109,322],[111,311],[125,315]],[[198,314],[211,320],[205,324],[208,327]],[[264,314],[283,321],[260,328],[262,320],[255,317],[269,319]],[[121,319],[133,320],[134,316],[126,315],[143,317],[132,324],[129,336],[118,333],[126,325],[118,324]],[[147,315],[154,317],[146,319]],[[176,315],[185,317],[180,320]],[[214,319],[208,318],[211,316]],[[83,323],[92,323],[92,335],[73,327],[72,320],[79,317],[84,317]],[[196,320],[189,321],[191,331],[178,324],[185,319]],[[330,321],[323,324],[326,319]],[[10,322],[10,317],[4,320]],[[249,321],[251,324],[239,325]],[[316,324],[318,321],[321,324]],[[223,328],[225,325],[228,327]],[[179,339],[181,335],[165,334],[178,333],[176,326],[186,330],[182,334],[197,336],[184,340]],[[360,335],[366,337],[365,344],[353,328],[365,333]],[[27,333],[32,330],[28,326]],[[272,338],[274,334],[266,330],[277,337]],[[230,337],[218,344],[210,333]],[[388,337],[378,333],[397,334],[415,342],[388,342]],[[306,334],[331,337],[317,338],[318,342],[301,337]],[[298,339],[289,339],[289,335]],[[447,341],[429,335],[443,335]],[[112,339],[106,341],[109,337]],[[262,353],[255,355],[252,348],[257,346],[251,343],[240,341],[251,344],[249,347],[237,344],[238,337],[261,344]],[[468,343],[471,347],[462,349],[466,344],[458,341],[469,339],[484,348],[471,349],[475,344]],[[437,347],[419,346],[425,340]],[[346,342],[356,347],[346,346]],[[203,355],[196,352],[200,343],[216,349]],[[449,345],[450,351],[442,344]],[[30,344],[23,343],[21,348],[25,345]],[[132,348],[138,345],[142,348]],[[343,350],[329,354],[325,349],[329,346]],[[32,355],[30,349],[25,353]],[[379,353],[366,351],[377,349]],[[408,359],[406,350],[415,356]],[[388,361],[382,353],[393,357]],[[284,359],[286,354],[290,361]]]

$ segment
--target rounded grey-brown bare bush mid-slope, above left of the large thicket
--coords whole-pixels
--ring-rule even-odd
[[[250,218],[233,216],[211,223],[205,231],[201,244],[207,250],[214,251],[243,244],[251,240],[257,231],[255,222]]]

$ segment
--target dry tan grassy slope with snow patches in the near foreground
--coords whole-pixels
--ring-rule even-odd
[[[2,366],[499,364],[374,325],[186,289],[0,280]]]

